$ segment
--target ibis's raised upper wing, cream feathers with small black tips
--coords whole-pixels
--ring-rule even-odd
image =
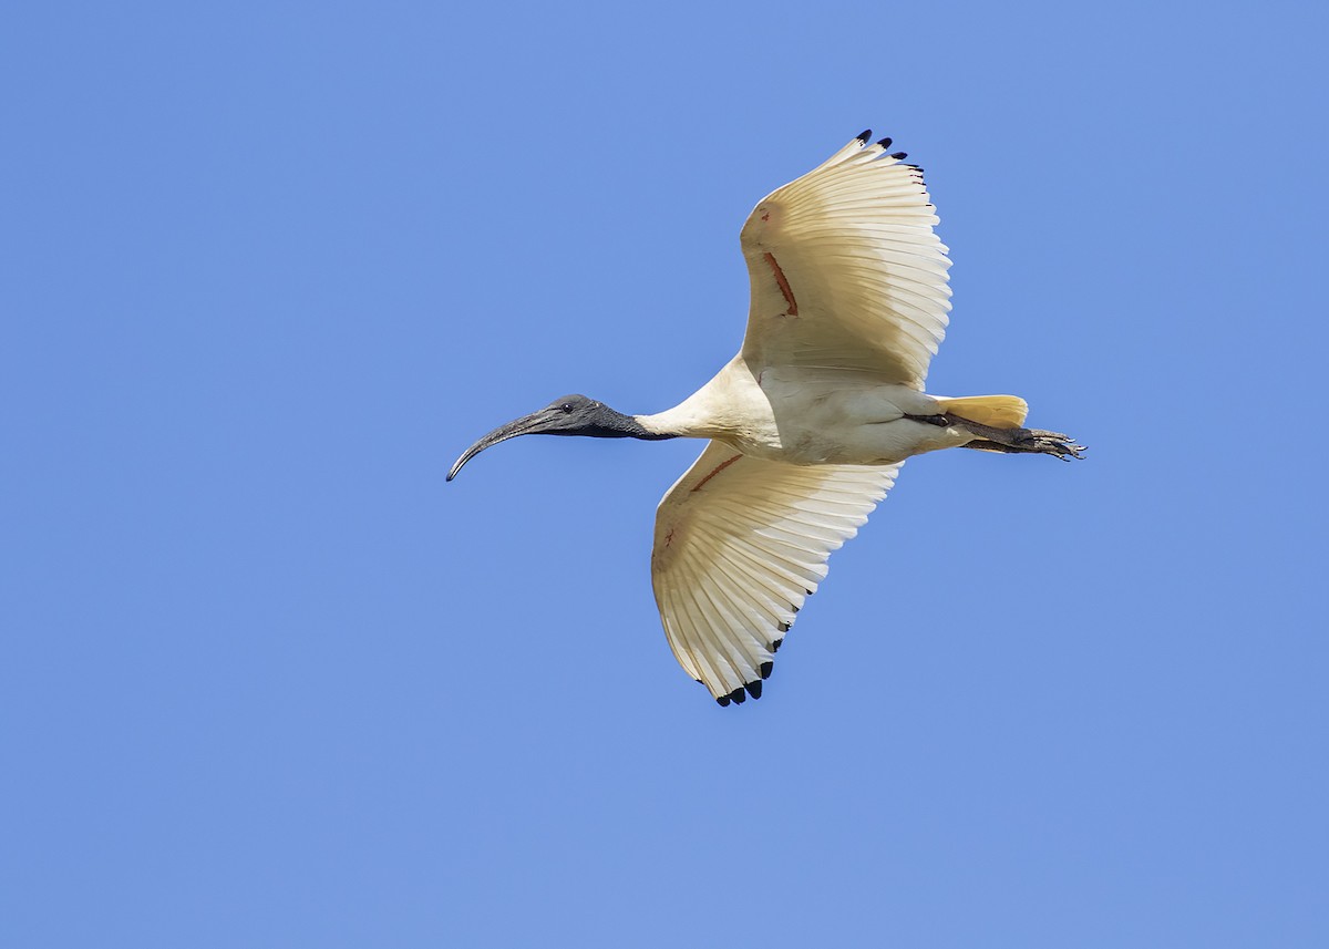
[[[946,334],[946,247],[922,169],[869,132],[776,189],[743,225],[750,366],[861,369],[922,389]]]

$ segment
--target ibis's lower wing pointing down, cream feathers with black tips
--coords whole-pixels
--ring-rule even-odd
[[[679,665],[722,704],[762,695],[775,650],[827,558],[900,464],[789,465],[711,441],[655,514],[651,580]]]

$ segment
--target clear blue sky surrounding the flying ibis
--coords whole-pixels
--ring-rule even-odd
[[[0,944],[1324,946],[1326,8],[15,5]],[[752,205],[956,261],[906,465],[719,708],[651,598]]]

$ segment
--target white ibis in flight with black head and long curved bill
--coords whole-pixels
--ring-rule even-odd
[[[710,439],[659,504],[651,574],[674,657],[722,706],[762,696],[831,552],[857,533],[905,459],[1083,451],[1022,428],[1017,396],[924,392],[948,323],[950,261],[922,169],[888,152],[889,138],[869,138],[748,215],[747,335],[696,393],[657,415],[565,396],[480,439],[448,474],[518,435]]]

